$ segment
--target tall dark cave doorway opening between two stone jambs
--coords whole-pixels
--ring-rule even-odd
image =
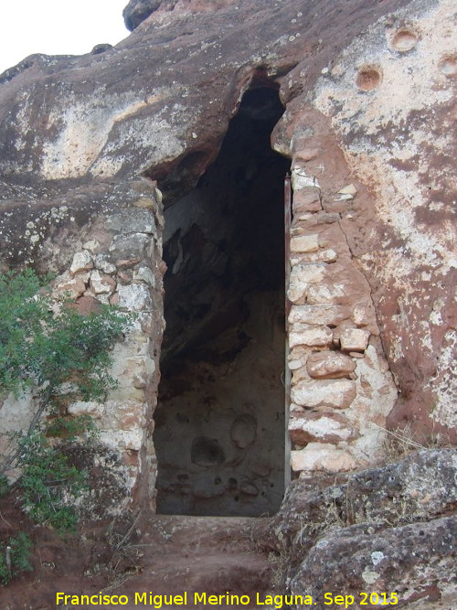
[[[259,516],[284,491],[278,91],[247,91],[215,163],[165,211],[157,512]]]

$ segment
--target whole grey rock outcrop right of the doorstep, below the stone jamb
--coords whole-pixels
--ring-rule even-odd
[[[395,604],[394,592],[401,607],[453,607],[456,475],[457,453],[449,449],[409,455],[328,487],[321,481],[319,489],[293,483],[263,534],[265,548],[282,553],[287,593],[312,595],[319,610],[333,601],[329,594],[364,607],[370,594],[377,594],[375,605]]]

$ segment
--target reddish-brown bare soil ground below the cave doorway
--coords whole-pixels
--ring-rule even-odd
[[[196,592],[238,594],[250,597],[250,604],[241,605],[250,608],[256,607],[257,594],[263,598],[271,589],[271,562],[256,544],[262,519],[140,513],[85,526],[79,535],[62,539],[34,526],[11,498],[2,500],[0,510],[2,542],[22,530],[34,543],[34,572],[0,585],[2,610],[96,607],[57,604],[58,592],[129,599],[127,605],[101,605],[105,608],[154,607],[150,592],[168,601],[170,595],[187,593],[186,605],[165,608],[207,607],[194,603]],[[135,603],[135,594],[144,593],[147,604],[141,597]],[[226,607],[221,602],[216,607]]]

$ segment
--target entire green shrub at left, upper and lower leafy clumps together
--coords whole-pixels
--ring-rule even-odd
[[[30,518],[59,532],[74,530],[77,514],[69,500],[87,488],[86,475],[69,464],[63,443],[90,437],[93,425],[89,417],[68,417],[66,408],[72,400],[103,400],[115,387],[110,349],[133,316],[107,305],[80,316],[68,302],[56,313],[31,270],[0,274],[0,311],[0,395],[28,388],[37,397],[27,434],[17,436],[0,474],[20,466],[18,487]],[[48,427],[41,423],[44,412],[52,418]],[[48,437],[59,441],[51,444]]]

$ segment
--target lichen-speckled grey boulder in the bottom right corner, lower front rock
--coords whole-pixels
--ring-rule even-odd
[[[314,545],[290,590],[312,595],[316,610],[327,608],[331,599],[338,604],[336,595],[348,604],[452,608],[456,562],[457,515],[389,530],[353,525],[329,531]]]

